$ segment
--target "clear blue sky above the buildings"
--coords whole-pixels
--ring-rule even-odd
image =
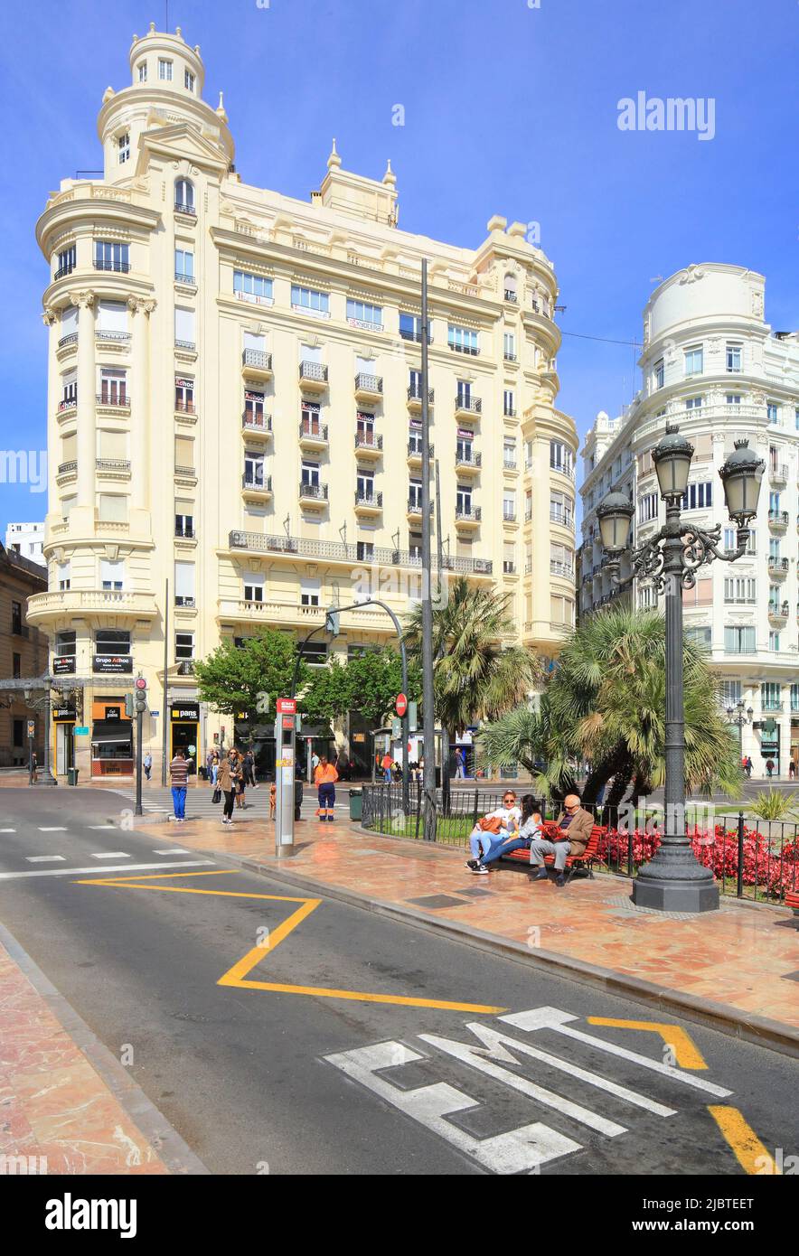
[[[0,450],[45,445],[36,217],[62,177],[101,165],[103,90],[127,85],[131,36],[163,29],[165,8],[4,6]],[[391,157],[406,230],[474,247],[492,214],[540,224],[577,333],[558,403],[580,435],[637,383],[632,348],[580,337],[639,340],[656,276],[750,266],[771,325],[799,327],[796,0],[170,0],[176,25],[201,45],[206,99],[225,92],[246,182],[307,198],[335,136],[348,170],[381,177]],[[619,131],[639,90],[712,97],[715,137]],[[0,538],[44,512],[44,494],[0,484]]]

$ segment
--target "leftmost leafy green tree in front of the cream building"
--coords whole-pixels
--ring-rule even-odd
[[[222,641],[207,658],[195,662],[200,700],[215,711],[237,716],[245,711],[250,727],[274,717],[275,700],[291,692],[296,646],[283,632],[264,628],[241,646]],[[298,688],[308,683],[310,669],[300,663]],[[269,695],[269,712],[265,696]]]

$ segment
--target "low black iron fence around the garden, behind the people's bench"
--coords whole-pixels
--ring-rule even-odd
[[[477,820],[503,805],[508,790],[454,789],[445,806],[436,793],[436,843],[466,848]],[[521,793],[516,791],[520,796]],[[545,820],[553,820],[560,804],[536,799]],[[594,806],[594,820],[603,833],[599,867],[619,877],[636,877],[660,843],[663,809],[657,804],[638,808]],[[402,809],[401,785],[366,785],[363,828],[387,836],[423,839],[423,806],[420,781],[411,785],[410,808]],[[720,814],[712,804],[686,804],[686,833],[705,867],[712,868],[722,894],[750,902],[784,902],[789,891],[799,891],[799,824],[788,820],[759,820],[742,811]]]

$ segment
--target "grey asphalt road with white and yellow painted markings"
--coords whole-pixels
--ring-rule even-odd
[[[166,824],[119,826],[118,803],[3,790],[0,919],[114,1055],[133,1049],[211,1172],[741,1174],[711,1109],[795,1152],[785,1056],[335,901],[286,902],[269,877],[181,854]],[[678,1025],[706,1068],[588,1017]]]

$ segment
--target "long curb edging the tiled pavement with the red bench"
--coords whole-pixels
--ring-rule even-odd
[[[317,897],[334,898],[347,903],[349,907],[359,907],[363,911],[373,912],[376,916],[386,916],[389,919],[401,921],[415,928],[425,929],[428,933],[438,933],[452,941],[462,942],[465,946],[487,951],[490,955],[499,955],[505,960],[514,960],[543,972],[555,968],[559,976],[567,976],[579,985],[602,990],[606,993],[633,996],[641,1002],[650,1004],[662,1011],[680,1015],[685,1020],[715,1029],[724,1034],[732,1034],[745,1042],[763,1046],[781,1055],[799,1058],[799,1030],[780,1021],[769,1020],[766,1016],[753,1016],[744,1011],[727,1007],[725,1004],[716,1004],[710,1000],[698,999],[696,995],[681,993],[676,990],[667,990],[641,977],[631,977],[614,972],[612,968],[601,968],[598,965],[584,963],[572,960],[568,956],[558,955],[554,951],[530,951],[520,942],[511,942],[509,938],[499,937],[496,933],[485,933],[469,924],[455,923],[437,916],[428,916],[412,907],[400,907],[396,903],[387,903],[379,898],[371,898],[353,889],[343,889],[339,885],[327,885],[324,882],[314,880],[312,877],[271,868],[266,864],[255,863],[246,857],[232,855],[229,852],[209,852],[215,859],[225,863],[234,863],[247,872],[258,873],[261,877],[271,877],[283,884],[293,885],[296,889],[307,889]]]

